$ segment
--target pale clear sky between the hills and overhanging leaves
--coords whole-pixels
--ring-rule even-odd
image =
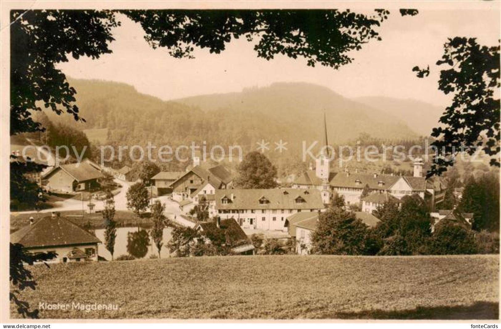
[[[70,59],[59,68],[72,78],[123,82],[163,100],[239,92],[286,81],[325,86],[347,98],[384,96],[444,106],[450,96],[437,90],[440,67],[435,66],[443,44],[449,37],[464,36],[495,45],[499,7],[482,2],[481,7],[451,3],[448,9],[417,8],[419,14],[414,17],[401,17],[397,10],[390,10],[388,20],[378,28],[382,41],[372,40],[352,52],[353,63],[338,70],[311,68],[303,59],[280,55],[271,61],[258,58],[253,44],[244,38],[227,44],[221,54],[197,50],[195,59],[174,59],[165,49],[152,49],[139,24],[124,16],[119,17],[122,26],[113,31],[112,54],[98,60]],[[412,72],[416,65],[430,65],[430,76],[416,78]]]

